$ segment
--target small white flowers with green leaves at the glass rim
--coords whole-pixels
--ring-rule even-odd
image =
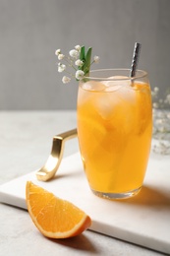
[[[64,62],[59,62],[57,64],[58,72],[67,73],[67,76],[62,78],[63,84],[69,83],[71,78],[75,78],[77,81],[80,81],[89,75],[90,66],[93,63],[98,63],[99,61],[98,56],[94,56],[91,61],[91,52],[91,47],[89,47],[85,52],[85,46],[80,45],[76,45],[74,49],[70,50],[68,56],[64,55],[61,49],[57,49],[55,51],[55,55],[58,57],[58,60]],[[74,74],[73,72],[70,72],[67,65],[74,70]]]

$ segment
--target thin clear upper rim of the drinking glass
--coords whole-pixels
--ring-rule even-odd
[[[91,73],[94,72],[107,72],[107,71],[127,71],[130,74],[131,69],[126,69],[126,68],[113,68],[113,69],[96,69],[96,70],[90,70],[89,71],[89,76],[85,76],[85,79],[89,80],[105,80],[105,81],[129,81],[129,80],[136,80],[136,79],[141,79],[146,77],[148,74],[146,71],[138,69],[136,71],[136,76],[135,77],[126,77],[126,78],[109,78],[109,77],[96,77],[96,76],[91,76]],[[140,72],[142,74],[137,75],[137,73]],[[119,76],[119,75],[117,75]]]

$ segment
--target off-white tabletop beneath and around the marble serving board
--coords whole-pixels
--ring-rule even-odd
[[[76,127],[76,111],[0,111],[0,184],[38,169],[55,134]],[[79,150],[66,142],[64,157]],[[0,256],[163,255],[138,245],[85,230],[80,236],[51,240],[32,224],[28,212],[0,204]]]

